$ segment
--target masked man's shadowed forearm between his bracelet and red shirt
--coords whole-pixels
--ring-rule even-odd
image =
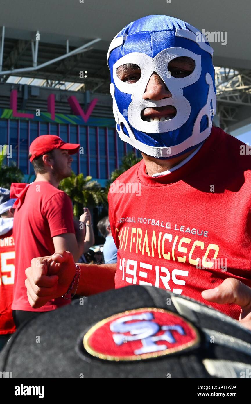
[[[114,277],[117,264],[78,264],[81,276],[77,295],[90,296],[115,288]]]

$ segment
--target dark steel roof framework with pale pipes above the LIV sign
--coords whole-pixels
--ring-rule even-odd
[[[36,85],[51,88],[67,89],[73,84],[75,91],[90,90],[92,93],[99,89],[109,93],[109,71],[105,63],[105,51],[96,49],[93,45],[100,38],[87,41],[78,48],[69,48],[66,41],[66,53],[62,45],[55,48],[54,44],[42,42],[37,31],[32,40],[10,40],[5,38],[5,28],[0,32],[0,82],[6,82],[11,77],[19,81],[30,78],[28,84],[37,80]],[[10,46],[13,44],[12,48]],[[10,48],[10,50],[9,50]],[[9,51],[8,51],[9,50]],[[50,55],[55,54],[54,59]],[[104,61],[103,61],[104,60]],[[30,62],[29,62],[30,61]],[[41,62],[42,63],[41,63]],[[88,77],[80,77],[82,70],[88,70]],[[40,81],[38,81],[40,79]]]

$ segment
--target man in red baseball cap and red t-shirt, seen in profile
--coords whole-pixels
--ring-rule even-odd
[[[16,271],[12,305],[17,326],[29,317],[37,316],[37,312],[51,311],[69,302],[63,298],[52,299],[40,309],[31,309],[25,287],[25,269],[33,257],[51,255],[61,248],[70,251],[76,261],[83,253],[84,234],[77,242],[71,200],[58,189],[59,182],[71,175],[71,155],[77,153],[79,147],[54,135],[37,137],[29,148],[36,180],[31,184],[11,185],[11,198],[17,198],[13,226]]]

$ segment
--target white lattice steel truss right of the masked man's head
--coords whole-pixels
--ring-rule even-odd
[[[228,130],[230,125],[240,120],[241,109],[251,107],[251,70],[215,67],[215,87],[216,114],[220,126]]]

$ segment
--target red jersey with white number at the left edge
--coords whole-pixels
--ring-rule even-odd
[[[0,335],[16,330],[11,310],[14,273],[15,244],[10,230],[0,236]]]

